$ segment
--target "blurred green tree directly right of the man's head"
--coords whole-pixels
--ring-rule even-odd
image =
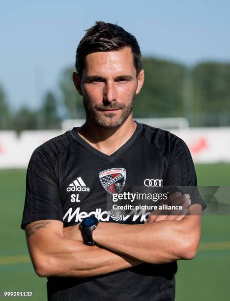
[[[144,86],[136,96],[135,117],[183,116],[184,66],[143,58]]]

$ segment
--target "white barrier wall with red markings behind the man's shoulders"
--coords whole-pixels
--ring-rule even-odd
[[[230,127],[170,130],[185,141],[195,163],[230,162]],[[61,130],[0,131],[0,168],[26,168],[32,152]]]

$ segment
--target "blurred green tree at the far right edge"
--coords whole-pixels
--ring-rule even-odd
[[[230,120],[230,63],[202,62],[193,69],[196,125],[216,126]]]

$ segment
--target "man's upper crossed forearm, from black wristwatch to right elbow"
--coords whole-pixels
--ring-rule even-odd
[[[189,234],[188,218],[197,219]],[[99,223],[93,231],[96,243],[144,262],[163,264],[178,259],[191,259],[200,240],[200,216],[181,221],[165,220],[150,224],[124,225]],[[196,245],[197,244],[197,245]]]

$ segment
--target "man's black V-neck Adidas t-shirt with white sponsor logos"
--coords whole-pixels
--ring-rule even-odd
[[[132,216],[119,220],[106,211],[106,202],[108,194],[144,185],[146,179],[163,181],[166,186],[197,185],[193,160],[183,140],[137,122],[132,137],[107,155],[89,145],[73,128],[33,152],[21,228],[43,219],[60,220],[67,227],[89,214],[101,222],[143,223]],[[205,208],[199,192],[191,200]],[[143,263],[88,278],[48,277],[48,300],[174,300],[176,271],[175,261]]]

